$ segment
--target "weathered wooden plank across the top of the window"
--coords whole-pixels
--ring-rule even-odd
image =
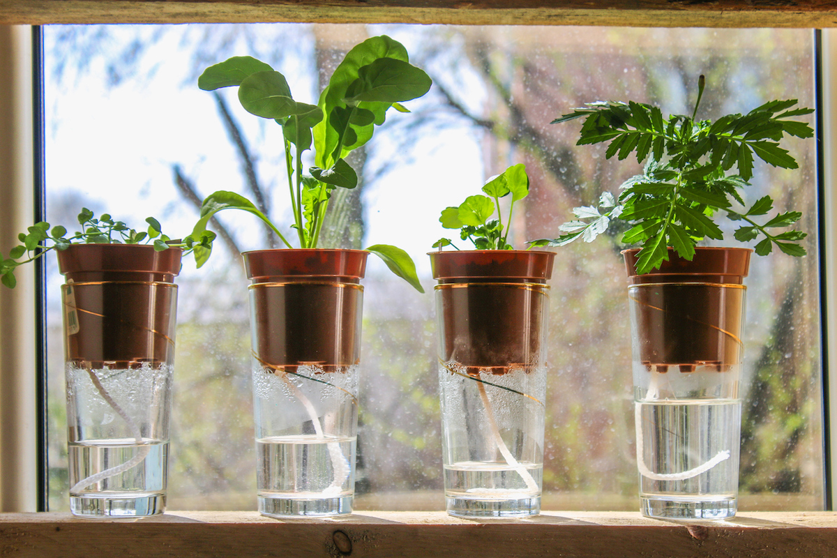
[[[834,0],[0,0],[0,23],[837,27]]]

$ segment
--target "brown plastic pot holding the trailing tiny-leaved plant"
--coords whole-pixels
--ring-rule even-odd
[[[56,251],[64,302],[64,356],[81,368],[172,361],[182,250],[73,244]]]

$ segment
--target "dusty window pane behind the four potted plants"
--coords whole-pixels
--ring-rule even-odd
[[[331,246],[406,249],[432,293],[432,243],[444,207],[525,162],[531,194],[514,243],[557,236],[571,208],[617,192],[639,170],[575,146],[578,122],[550,125],[594,100],[660,104],[700,116],[767,100],[814,105],[813,33],[792,29],[452,27],[408,25],[50,26],[46,50],[47,203],[70,230],[81,207],[176,238],[215,190],[264,195],[290,223],[278,126],[233,91],[198,90],[210,64],[249,54],[315,102],[347,49],[387,33],[434,88],[393,114],[352,161],[362,184],[327,231]],[[236,135],[236,133],[238,135]],[[788,141],[798,171],[757,165],[747,199],[769,194],[804,212],[809,256],[756,258],[747,279],[740,509],[823,509],[823,425],[814,141]],[[274,242],[251,216],[203,269],[178,284],[170,509],[254,509],[255,457],[247,281],[238,252]],[[732,226],[725,229],[732,237]],[[544,509],[637,509],[624,265],[618,236],[558,249],[552,280]],[[325,245],[325,244],[321,244]],[[67,509],[61,278],[50,259],[49,504]],[[444,509],[432,294],[370,261],[365,284],[356,509]]]

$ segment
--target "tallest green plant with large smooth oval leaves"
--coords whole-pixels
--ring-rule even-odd
[[[238,86],[239,101],[251,114],[275,120],[282,127],[290,205],[300,248],[316,248],[334,188],[357,186],[357,173],[345,157],[372,138],[390,108],[409,112],[403,101],[427,93],[432,84],[423,70],[408,62],[403,45],[387,36],[372,37],[355,46],[331,75],[317,105],[293,99],[285,76],[249,56],[237,56],[203,71],[202,90]],[[313,146],[315,165],[303,174],[302,157]],[[223,209],[253,213],[293,248],[279,228],[247,198],[234,192],[214,192],[203,202],[193,236],[202,233]],[[198,267],[211,247],[198,248]],[[394,273],[421,289],[407,253],[386,244],[367,248],[382,257]],[[422,291],[423,292],[423,291]]]

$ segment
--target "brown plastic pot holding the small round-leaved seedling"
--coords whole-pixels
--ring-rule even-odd
[[[555,254],[523,250],[431,252],[439,358],[469,374],[542,364]]]

